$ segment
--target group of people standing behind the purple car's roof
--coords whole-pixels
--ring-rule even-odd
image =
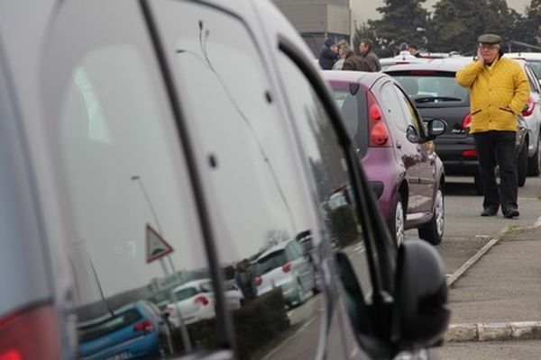
[[[371,40],[362,39],[361,55],[355,55],[346,40],[335,43],[327,38],[319,54],[319,66],[324,70],[380,71],[380,58],[372,51]]]

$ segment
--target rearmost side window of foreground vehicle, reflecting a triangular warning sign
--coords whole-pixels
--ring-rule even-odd
[[[141,19],[129,1],[65,3],[45,54],[42,95],[81,357],[129,357],[126,344],[142,342],[146,358],[198,347],[166,313],[172,289],[209,271],[178,131]],[[149,302],[160,312],[149,311]],[[126,315],[135,313],[141,319]]]

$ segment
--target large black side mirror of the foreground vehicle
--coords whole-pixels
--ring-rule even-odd
[[[391,342],[399,350],[441,345],[449,324],[444,264],[434,247],[410,239],[399,247]]]

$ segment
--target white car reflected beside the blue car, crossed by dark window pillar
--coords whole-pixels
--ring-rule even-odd
[[[225,284],[225,301],[231,310],[241,307],[243,294],[235,284]],[[215,293],[211,279],[193,280],[173,289],[177,302],[166,307],[170,323],[179,327],[215,317]]]

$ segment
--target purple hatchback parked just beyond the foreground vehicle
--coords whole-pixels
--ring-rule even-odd
[[[432,139],[445,122],[423,124],[399,83],[385,74],[326,71],[346,128],[398,243],[404,230],[439,244],[444,236],[445,173]]]

